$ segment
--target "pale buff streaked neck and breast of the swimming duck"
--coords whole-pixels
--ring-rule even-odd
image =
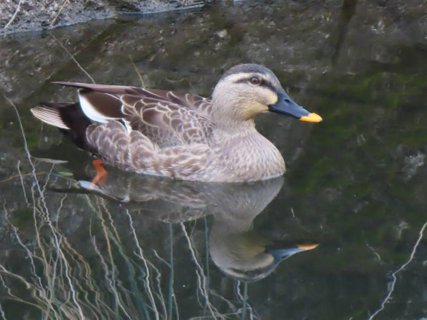
[[[227,100],[225,97],[228,97]],[[231,98],[229,97],[231,96]],[[245,113],[240,98],[212,96],[213,131],[211,147],[220,154],[221,168],[230,181],[251,181],[282,175],[285,171],[279,150],[255,128],[255,113]]]

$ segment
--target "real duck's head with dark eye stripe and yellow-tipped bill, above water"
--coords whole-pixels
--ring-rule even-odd
[[[217,123],[226,122],[226,117],[250,120],[267,111],[302,121],[322,121],[318,114],[296,104],[270,69],[257,64],[240,64],[228,70],[213,90],[212,102],[212,116]]]

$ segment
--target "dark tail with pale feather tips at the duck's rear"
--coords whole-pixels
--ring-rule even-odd
[[[92,122],[83,113],[78,102],[42,102],[32,108],[31,112],[43,122],[58,127],[79,148],[87,149],[86,128]]]

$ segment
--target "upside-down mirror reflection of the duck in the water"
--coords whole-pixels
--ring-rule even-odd
[[[228,276],[256,281],[295,253],[317,244],[273,241],[253,230],[254,219],[277,196],[283,177],[254,183],[201,183],[132,175],[113,170],[102,187],[79,181],[81,187],[119,201],[134,214],[165,223],[212,216],[209,252]]]

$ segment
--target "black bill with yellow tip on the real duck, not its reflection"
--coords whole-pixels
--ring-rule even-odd
[[[290,115],[301,121],[309,122],[321,122],[322,117],[316,113],[305,110],[300,105],[296,104],[285,92],[279,92],[278,99],[275,104],[268,106],[268,110],[271,112],[281,113]]]

